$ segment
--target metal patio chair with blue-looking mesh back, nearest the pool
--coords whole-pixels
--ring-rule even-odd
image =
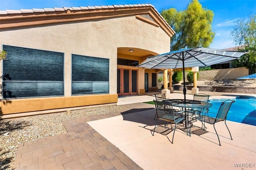
[[[218,140],[219,140],[219,144],[220,144],[220,138],[219,138],[219,135],[218,135],[218,133],[217,133],[217,131],[216,131],[216,129],[215,129],[215,123],[218,123],[218,122],[220,122],[220,121],[224,121],[224,122],[225,122],[225,125],[226,125],[226,127],[227,127],[227,129],[228,129],[228,126],[227,126],[227,124],[226,124],[226,118],[227,118],[227,115],[228,115],[228,111],[229,111],[229,109],[230,109],[232,103],[234,103],[234,102],[235,102],[235,100],[226,100],[225,102],[222,102],[222,103],[220,104],[220,108],[219,108],[219,110],[218,110],[218,113],[217,113],[216,117],[210,117],[210,116],[208,115],[208,113],[210,113],[209,111],[206,111],[206,112],[204,113],[204,115],[200,115],[200,116],[194,117],[195,119],[198,119],[198,120],[204,122],[204,124],[205,124],[205,123],[209,123],[209,124],[212,124],[212,125],[213,125],[214,130],[215,130],[216,135],[217,135]],[[233,140],[229,129],[228,129],[228,132],[229,132],[229,134],[230,134],[231,140]],[[221,146],[221,145],[220,145],[220,146]]]

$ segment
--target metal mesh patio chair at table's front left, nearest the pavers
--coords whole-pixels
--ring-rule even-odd
[[[166,101],[166,100],[163,100],[163,101],[154,100],[154,103],[155,103],[155,106],[156,106],[156,124],[155,124],[153,133],[152,133],[152,131],[151,131],[151,133],[154,136],[154,132],[155,132],[158,120],[163,120],[163,121],[166,121],[170,124],[171,123],[175,124],[175,127],[173,129],[174,132],[173,132],[173,135],[172,135],[172,141],[170,141],[170,139],[168,138],[168,140],[171,143],[173,143],[174,133],[175,133],[175,130],[176,130],[176,125],[178,123],[181,123],[185,119],[184,117],[181,117],[181,115],[180,115],[180,114],[182,114],[182,111],[175,112],[174,109],[172,108],[172,102],[169,102],[169,101]],[[164,127],[166,128],[166,125]],[[168,129],[170,129],[170,128],[168,128]]]

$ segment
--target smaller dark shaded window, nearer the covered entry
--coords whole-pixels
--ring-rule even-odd
[[[72,55],[72,95],[109,93],[109,59]]]

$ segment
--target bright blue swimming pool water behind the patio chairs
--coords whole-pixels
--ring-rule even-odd
[[[212,104],[209,112],[218,112],[217,108],[220,108],[220,104],[225,100],[209,100]],[[232,100],[235,100],[235,102],[230,107],[227,120],[256,126],[256,98],[252,96],[238,96]],[[209,116],[216,117],[216,114],[209,113]]]

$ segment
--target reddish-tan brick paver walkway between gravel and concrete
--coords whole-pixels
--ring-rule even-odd
[[[120,170],[141,168],[96,132],[88,121],[120,115],[108,113],[64,121],[68,133],[21,144],[16,170]]]

